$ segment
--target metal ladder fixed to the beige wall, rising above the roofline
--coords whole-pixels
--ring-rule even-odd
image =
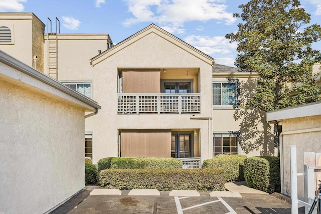
[[[57,38],[57,21],[58,21],[58,34],[60,34],[60,21],[56,17],[56,33],[52,33],[51,20],[47,20],[47,55],[48,55],[48,76],[58,80],[58,38]],[[50,32],[49,32],[50,24]]]

